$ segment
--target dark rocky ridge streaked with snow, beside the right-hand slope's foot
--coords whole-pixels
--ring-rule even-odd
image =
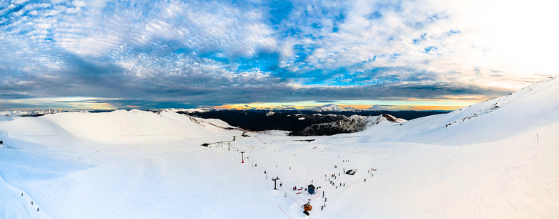
[[[292,132],[290,135],[294,136],[317,136],[317,135],[332,135],[340,133],[353,133],[361,132],[369,127],[372,127],[381,122],[406,122],[406,119],[399,119],[389,114],[381,114],[376,117],[364,117],[360,115],[353,115],[345,119],[339,119],[334,122],[313,124],[309,127],[302,129],[299,132]]]

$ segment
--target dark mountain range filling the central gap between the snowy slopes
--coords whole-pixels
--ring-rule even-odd
[[[334,109],[336,107],[329,106],[329,108]],[[383,114],[386,115],[385,118],[394,117],[396,119],[400,118],[399,121],[405,121],[433,114],[442,114],[446,111],[189,110],[178,111],[178,113],[205,119],[221,119],[232,126],[250,131],[284,130],[291,132],[292,135],[332,135],[354,132],[354,130],[359,132],[366,127],[367,122],[377,119]],[[355,121],[350,122],[352,119]],[[363,121],[357,122],[357,120]],[[334,122],[334,126],[337,122],[338,127],[332,128],[332,125],[330,125],[330,128],[321,131],[317,130],[320,126],[311,127],[317,124],[324,124],[322,127],[327,127],[326,124],[332,122]],[[348,123],[352,127],[344,127]]]

